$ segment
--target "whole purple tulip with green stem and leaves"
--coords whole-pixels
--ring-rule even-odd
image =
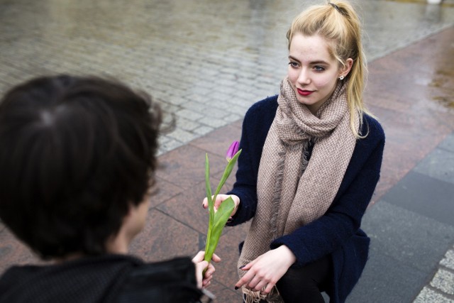
[[[228,197],[224,200],[217,211],[214,211],[214,202],[216,201],[216,196],[221,191],[223,184],[226,182],[228,176],[235,166],[236,160],[240,156],[241,150],[238,150],[238,141],[234,141],[230,148],[228,148],[226,159],[228,164],[224,173],[219,181],[218,187],[216,187],[216,192],[214,195],[211,195],[211,185],[209,180],[210,168],[208,161],[208,154],[205,155],[205,187],[206,187],[206,198],[208,199],[208,209],[209,209],[209,224],[208,232],[206,233],[206,245],[205,245],[205,259],[210,262],[211,257],[218,246],[219,238],[221,237],[222,230],[226,226],[228,218],[232,214],[233,209],[235,209],[235,202],[231,197]]]

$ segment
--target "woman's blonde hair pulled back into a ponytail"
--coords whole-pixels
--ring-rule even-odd
[[[339,66],[345,67],[348,58],[353,59],[353,65],[346,76],[347,100],[350,109],[350,127],[357,138],[362,137],[355,128],[355,112],[360,121],[364,113],[373,116],[365,108],[362,93],[367,77],[367,64],[361,43],[361,23],[355,9],[346,1],[328,1],[326,5],[311,6],[301,12],[287,32],[288,47],[295,34],[320,35],[328,41],[329,53],[336,58]]]

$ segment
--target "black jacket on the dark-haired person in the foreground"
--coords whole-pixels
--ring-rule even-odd
[[[13,266],[0,278],[0,303],[199,302],[189,258],[144,263],[101,255],[58,265]]]

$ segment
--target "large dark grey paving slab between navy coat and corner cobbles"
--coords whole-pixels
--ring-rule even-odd
[[[454,226],[384,200],[370,206],[362,228],[371,238],[370,257],[348,302],[410,302],[454,242]]]

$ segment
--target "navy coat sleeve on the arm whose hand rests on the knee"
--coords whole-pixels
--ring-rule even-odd
[[[272,249],[285,245],[292,250],[297,257],[294,267],[333,253],[362,233],[361,219],[380,178],[384,150],[382,127],[370,117],[366,122],[369,133],[357,141],[341,187],[326,214],[271,243]]]

